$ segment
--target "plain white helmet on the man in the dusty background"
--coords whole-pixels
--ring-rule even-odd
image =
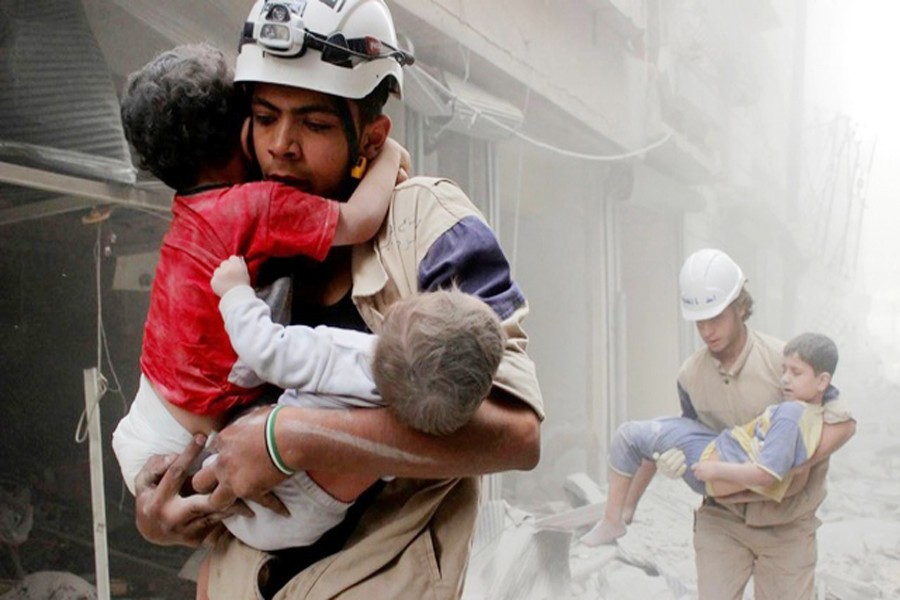
[[[684,261],[678,276],[681,315],[688,321],[719,316],[746,282],[738,264],[721,250],[697,250]]]

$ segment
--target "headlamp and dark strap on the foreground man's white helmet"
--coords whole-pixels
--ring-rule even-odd
[[[310,31],[300,16],[305,5],[305,2],[266,2],[256,23],[245,25],[241,45],[257,44],[264,52],[283,58],[297,58],[313,49],[321,53],[322,61],[346,68],[383,58],[394,59],[400,66],[413,64],[412,54],[372,36],[347,39],[340,33],[326,36]]]

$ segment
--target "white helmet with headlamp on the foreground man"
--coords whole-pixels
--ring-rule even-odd
[[[385,78],[398,96],[413,57],[397,45],[383,0],[257,0],[235,82],[277,83],[360,99]]]

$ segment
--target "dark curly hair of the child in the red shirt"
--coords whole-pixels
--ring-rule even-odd
[[[229,61],[209,44],[177,46],[132,73],[121,104],[138,165],[179,191],[239,151],[249,114]]]

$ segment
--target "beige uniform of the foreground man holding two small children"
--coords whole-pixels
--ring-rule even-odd
[[[378,333],[385,309],[416,293],[418,266],[441,234],[465,217],[483,219],[446,179],[415,178],[397,187],[379,234],[353,254],[354,303]],[[494,385],[543,419],[534,364],[525,353],[521,307],[503,321],[508,341]],[[366,510],[341,552],[298,574],[278,599],[380,600],[457,598],[478,513],[479,480],[396,479]],[[234,538],[219,543],[210,570],[210,597],[255,598],[266,555]]]

